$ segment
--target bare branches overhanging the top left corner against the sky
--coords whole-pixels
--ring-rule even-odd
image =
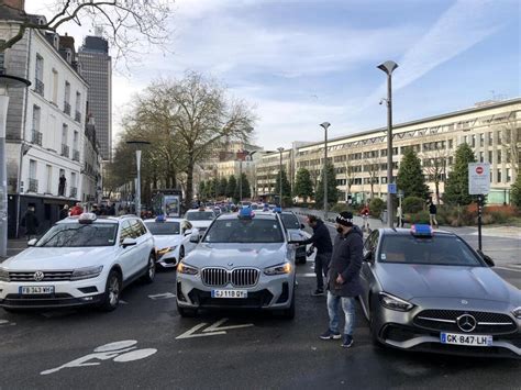
[[[48,7],[52,16],[35,18],[14,7],[15,1],[0,0],[0,10],[10,12],[20,21],[18,32],[0,42],[0,53],[21,41],[27,30],[56,32],[69,22],[82,25],[86,21],[108,32],[107,38],[115,48],[114,57],[136,53],[142,38],[152,45],[167,43],[168,19],[171,9],[168,0],[55,0]]]

